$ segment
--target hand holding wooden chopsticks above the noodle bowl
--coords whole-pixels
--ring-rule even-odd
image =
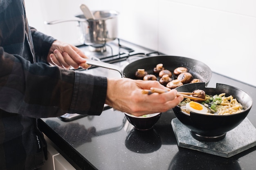
[[[142,94],[143,89],[162,88],[168,92],[151,95]],[[133,80],[128,78],[108,78],[106,104],[113,108],[141,116],[150,113],[166,112],[177,106],[183,96],[176,96],[175,89],[170,90],[157,81]]]

